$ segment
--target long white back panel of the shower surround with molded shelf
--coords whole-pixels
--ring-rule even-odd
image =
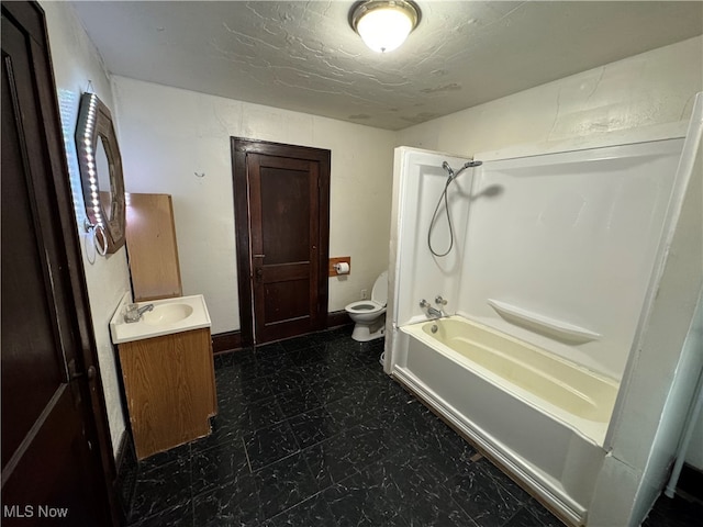
[[[458,313],[620,380],[682,148],[669,139],[487,161],[473,194],[506,191],[470,208]],[[491,301],[594,336],[555,337]]]

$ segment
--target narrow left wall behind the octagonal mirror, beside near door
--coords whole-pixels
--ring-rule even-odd
[[[76,217],[79,225],[90,314],[98,348],[112,448],[113,452],[116,453],[120,439],[125,430],[125,422],[120,399],[116,357],[110,340],[108,324],[120,299],[125,291],[130,290],[130,278],[124,248],[107,258],[98,256],[94,259],[94,264],[90,264],[87,258],[86,234],[80,228],[86,213],[74,144],[80,96],[86,91],[88,81],[92,82],[93,91],[114,114],[112,90],[100,56],[92,42],[88,38],[70,4],[66,2],[42,2],[42,8],[46,13],[52,61],[58,90],[62,125],[65,133],[64,141],[68,156]],[[92,256],[92,250],[90,255]]]

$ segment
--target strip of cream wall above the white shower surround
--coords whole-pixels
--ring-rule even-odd
[[[635,130],[655,138],[685,131],[702,79],[699,36],[402,130],[398,145],[472,156],[601,146]]]

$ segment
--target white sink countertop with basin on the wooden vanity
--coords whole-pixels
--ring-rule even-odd
[[[138,322],[126,323],[124,322],[124,309],[125,305],[131,303],[130,293],[124,293],[120,304],[118,305],[112,319],[110,321],[110,335],[112,336],[113,344],[131,343],[134,340],[143,340],[145,338],[160,337],[164,335],[171,335],[174,333],[189,332],[191,329],[201,329],[203,327],[210,327],[210,314],[208,313],[208,306],[205,305],[205,299],[202,294],[196,294],[192,296],[178,296],[175,299],[153,300],[147,302],[138,302],[140,307],[154,304],[155,312],[161,307],[161,310],[168,310],[169,305],[179,305],[182,307],[189,306],[192,309],[185,318],[176,322],[165,321],[157,323],[146,322],[146,317],[142,316]],[[186,307],[188,310],[188,307]],[[183,311],[183,310],[180,310]],[[152,312],[146,312],[148,315]]]

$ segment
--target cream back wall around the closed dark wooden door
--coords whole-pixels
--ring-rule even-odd
[[[233,136],[332,150],[330,256],[352,273],[330,279],[330,311],[388,268],[394,133],[124,77],[113,90],[126,190],[172,195],[183,294],[204,294],[213,334],[239,328]]]

